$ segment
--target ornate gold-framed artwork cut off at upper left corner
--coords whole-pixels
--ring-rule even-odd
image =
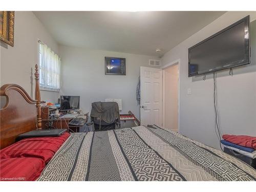
[[[14,45],[14,11],[0,11],[0,40]]]

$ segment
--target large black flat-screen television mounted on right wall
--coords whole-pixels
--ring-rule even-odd
[[[188,49],[188,77],[249,63],[249,15]]]

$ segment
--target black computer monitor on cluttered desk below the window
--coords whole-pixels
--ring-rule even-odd
[[[60,111],[78,110],[80,106],[80,96],[60,96]]]

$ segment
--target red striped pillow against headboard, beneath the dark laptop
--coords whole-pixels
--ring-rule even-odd
[[[64,133],[59,137],[23,139],[1,150],[0,158],[34,157],[48,163],[69,136],[69,133]]]

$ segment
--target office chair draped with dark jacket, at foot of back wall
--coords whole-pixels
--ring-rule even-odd
[[[112,130],[120,126],[117,102],[93,102],[90,117],[95,131]]]

